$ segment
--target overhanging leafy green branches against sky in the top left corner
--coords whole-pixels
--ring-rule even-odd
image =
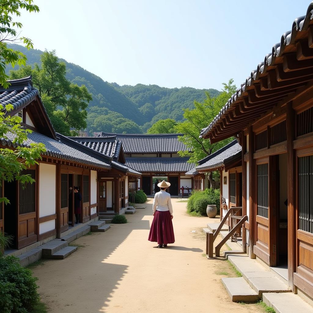
[[[0,84],[4,88],[9,86],[8,75],[5,73],[7,65],[21,66],[25,65],[27,60],[25,54],[9,48],[8,44],[23,42],[27,49],[33,48],[33,43],[29,38],[18,37],[17,29],[21,29],[23,24],[14,21],[13,16],[20,17],[21,9],[28,12],[39,12],[39,8],[33,4],[33,0],[0,0]]]

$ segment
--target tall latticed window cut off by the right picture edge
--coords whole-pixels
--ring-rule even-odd
[[[299,157],[299,228],[313,233],[313,156]]]

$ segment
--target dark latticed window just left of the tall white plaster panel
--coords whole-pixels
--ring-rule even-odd
[[[23,170],[22,175],[36,178],[36,170]],[[36,212],[36,183],[19,182],[19,214]]]

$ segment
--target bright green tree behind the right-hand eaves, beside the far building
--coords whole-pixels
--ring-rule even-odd
[[[201,130],[213,121],[214,117],[237,90],[236,85],[233,85],[233,79],[230,79],[228,84],[223,83],[223,86],[219,95],[211,98],[210,94],[206,92],[207,98],[203,102],[194,101],[194,109],[184,110],[183,116],[186,121],[177,124],[175,127],[177,133],[185,134],[184,136],[180,136],[179,140],[182,141],[187,148],[192,148],[191,153],[187,150],[178,152],[180,156],[190,156],[189,162],[197,162],[233,140],[229,138],[210,144],[208,139],[199,138]],[[214,187],[213,172],[209,173],[208,179],[211,186]]]

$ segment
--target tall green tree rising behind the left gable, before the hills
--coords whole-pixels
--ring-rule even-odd
[[[47,110],[55,130],[63,135],[75,136],[87,126],[88,103],[92,100],[85,85],[78,86],[66,79],[66,65],[55,51],[41,54],[41,67],[35,63],[11,70],[12,79],[32,75],[33,84]]]

